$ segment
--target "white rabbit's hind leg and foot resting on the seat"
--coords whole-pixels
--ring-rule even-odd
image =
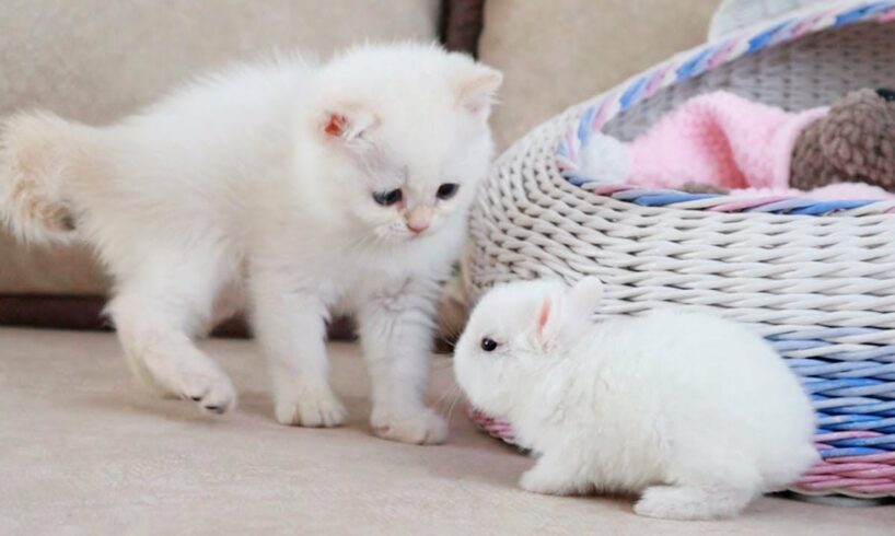
[[[674,485],[647,488],[634,511],[669,520],[731,517],[760,494],[759,473],[747,456],[698,448],[671,468]]]

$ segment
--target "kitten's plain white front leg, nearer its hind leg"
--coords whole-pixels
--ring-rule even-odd
[[[258,275],[253,327],[267,358],[277,420],[301,427],[337,427],[345,406],[329,386],[327,307],[310,292],[290,291],[275,276]]]

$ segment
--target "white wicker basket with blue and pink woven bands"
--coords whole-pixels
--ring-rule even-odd
[[[515,143],[475,209],[466,277],[475,300],[503,281],[595,275],[603,315],[675,304],[753,325],[817,408],[824,462],[793,489],[892,497],[895,202],[744,201],[576,176],[591,132],[630,139],[707,91],[800,110],[895,86],[895,0],[821,5],[675,56]],[[499,418],[470,415],[512,441]]]

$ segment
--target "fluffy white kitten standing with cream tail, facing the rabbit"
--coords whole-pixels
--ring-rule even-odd
[[[350,311],[375,433],[440,442],[445,423],[422,401],[433,307],[492,154],[500,82],[437,47],[369,46],[232,68],[103,128],[22,115],[2,135],[0,207],[24,237],[95,247],[151,386],[232,408],[194,338],[246,291],[278,420],[339,424],[325,322]]]

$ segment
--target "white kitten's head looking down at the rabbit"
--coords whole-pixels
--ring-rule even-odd
[[[433,46],[368,46],[324,67],[312,139],[338,217],[377,242],[437,233],[465,217],[493,148],[500,72]]]

